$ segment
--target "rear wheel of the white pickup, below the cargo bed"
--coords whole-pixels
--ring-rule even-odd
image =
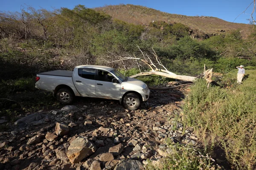
[[[68,88],[61,88],[56,94],[58,101],[65,105],[71,104],[74,100],[74,96],[73,91]]]

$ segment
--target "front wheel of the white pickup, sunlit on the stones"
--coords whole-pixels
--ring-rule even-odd
[[[128,93],[123,99],[123,106],[129,110],[136,110],[140,106],[140,97],[135,93]]]

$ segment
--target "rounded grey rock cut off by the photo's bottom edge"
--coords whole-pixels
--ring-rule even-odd
[[[125,159],[116,164],[114,170],[143,170],[143,164],[138,160]]]

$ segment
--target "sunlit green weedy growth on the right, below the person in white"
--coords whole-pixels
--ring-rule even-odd
[[[256,168],[256,70],[246,70],[236,84],[236,70],[225,74],[221,86],[206,88],[198,80],[185,99],[183,122],[193,126],[204,145],[222,147],[232,169]],[[209,150],[210,152],[210,150]]]

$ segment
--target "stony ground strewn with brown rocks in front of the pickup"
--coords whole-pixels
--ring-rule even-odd
[[[83,98],[61,110],[30,113],[14,124],[0,119],[1,170],[140,170],[172,153],[165,139],[195,145],[177,122],[188,87],[151,90],[139,110],[118,101]]]

